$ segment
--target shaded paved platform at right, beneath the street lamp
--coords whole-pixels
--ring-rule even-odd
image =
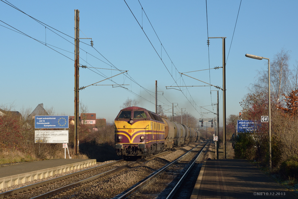
[[[297,198],[244,159],[205,160],[191,199]]]

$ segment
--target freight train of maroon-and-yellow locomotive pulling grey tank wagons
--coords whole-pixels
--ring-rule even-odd
[[[137,106],[122,109],[114,122],[115,149],[124,157],[146,157],[200,138],[200,131]]]

